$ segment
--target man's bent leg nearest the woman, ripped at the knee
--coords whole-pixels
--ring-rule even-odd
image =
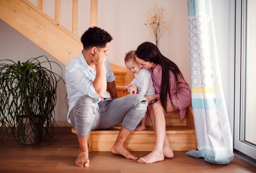
[[[125,149],[124,144],[144,117],[147,110],[147,99],[140,94],[127,95],[112,101],[104,101],[100,106],[103,118],[99,129],[108,129],[123,122],[111,152],[125,156],[127,159],[138,159],[136,155]]]

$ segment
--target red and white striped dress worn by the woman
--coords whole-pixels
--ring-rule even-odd
[[[161,80],[162,80],[162,67],[160,66],[160,64],[157,64],[153,72],[151,69],[148,69],[148,70],[150,71],[152,76],[155,92],[156,94],[159,94]],[[175,112],[180,114],[180,122],[181,122],[186,115],[186,108],[191,103],[191,91],[189,89],[189,84],[186,83],[186,81],[183,79],[181,75],[178,75],[178,86],[180,87],[180,91],[178,91],[177,93],[177,97],[178,97],[177,99],[175,94],[175,75],[173,74],[172,71],[170,71],[170,87],[171,87],[170,93],[171,93],[172,103],[174,104],[174,106],[179,108],[179,110]],[[158,98],[158,100],[160,100],[160,98]],[[167,101],[171,103],[169,94],[167,94]]]

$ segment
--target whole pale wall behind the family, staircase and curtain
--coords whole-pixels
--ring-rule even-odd
[[[29,1],[37,5],[37,0]],[[229,1],[212,0],[215,35],[226,104],[228,102],[227,70],[229,68],[229,39],[227,34],[229,29]],[[166,20],[169,21],[171,30],[169,34],[165,32],[161,37],[160,51],[177,64],[185,80],[191,86],[187,0],[98,0],[98,26],[108,31],[114,39],[111,41],[108,59],[112,63],[124,66],[125,52],[136,49],[140,43],[145,41],[154,43],[154,37],[148,37],[149,32],[143,25],[144,20],[142,18],[155,3],[168,9]],[[54,6],[52,0],[44,0],[44,12],[52,18],[54,18]],[[78,23],[78,36],[81,37],[82,33],[90,26],[89,0],[79,0]],[[70,31],[72,30],[72,0],[61,0],[61,25]],[[2,20],[0,20],[0,38],[0,59],[25,61],[26,58],[46,55],[50,60],[55,61],[44,50]],[[65,66],[59,64],[65,69]],[[61,74],[60,71],[57,73]],[[67,115],[65,94],[64,84],[58,85],[55,112],[56,120],[60,121],[59,125],[63,125]]]

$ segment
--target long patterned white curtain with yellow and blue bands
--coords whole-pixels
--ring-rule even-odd
[[[233,146],[224,101],[211,0],[188,0],[192,108],[199,151],[189,156],[204,157],[214,164],[228,164]]]

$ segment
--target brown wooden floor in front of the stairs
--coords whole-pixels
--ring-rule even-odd
[[[0,145],[0,173],[256,173],[256,169],[234,157],[227,165],[210,164],[203,158],[175,151],[173,159],[153,164],[140,164],[111,152],[90,152],[90,166],[75,165],[78,154],[76,134],[71,127],[60,127],[55,143],[36,148],[15,142]],[[143,157],[149,152],[133,152]]]

